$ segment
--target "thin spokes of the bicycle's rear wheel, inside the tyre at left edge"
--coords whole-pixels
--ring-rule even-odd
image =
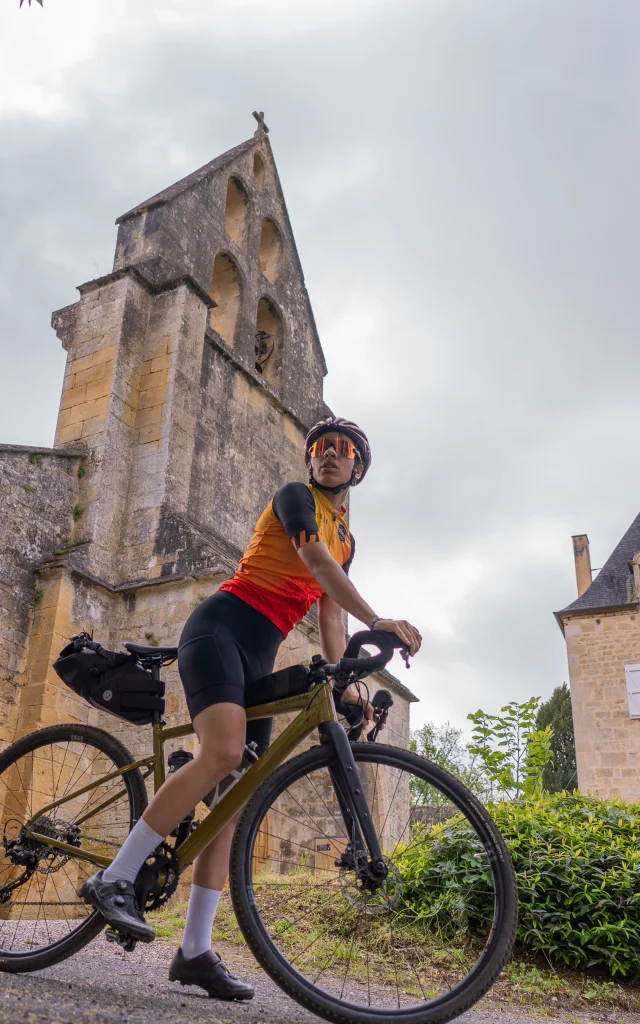
[[[139,816],[140,809],[136,804],[133,813],[131,783],[125,780],[123,784],[118,777],[101,781],[103,775],[122,766],[118,761],[122,757],[119,744],[114,746],[114,760],[109,745],[102,749],[92,738],[85,738],[83,728],[54,727],[61,735],[48,739],[50,730],[47,730],[40,743],[35,733],[35,745],[17,754],[2,775],[5,785],[0,824],[6,839],[11,840],[11,845],[0,844],[0,888],[6,893],[9,887],[8,899],[0,903],[2,956],[37,957],[40,951],[60,944],[83,928],[89,919],[95,919],[95,930],[86,932],[87,941],[99,930],[94,911],[77,895],[84,879],[90,870],[95,870],[84,860],[83,851],[87,854],[91,850],[108,851],[113,857],[128,835],[131,818]],[[15,745],[26,741],[18,740]],[[110,742],[109,737],[104,742]],[[89,787],[78,795],[77,791],[85,788],[88,781]],[[140,782],[135,785],[139,793]],[[60,799],[62,804],[44,810]],[[43,810],[39,813],[38,808]],[[89,820],[77,825],[77,833],[70,833],[70,827],[87,813]],[[30,819],[36,823],[34,833],[53,842],[80,845],[76,851],[67,853],[40,843],[24,827]],[[20,846],[37,858],[31,868],[25,868],[19,861],[12,862],[12,857],[22,852]],[[20,882],[24,876],[27,877]],[[11,885],[15,888],[11,889]]]

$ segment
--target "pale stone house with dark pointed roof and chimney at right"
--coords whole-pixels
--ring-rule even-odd
[[[640,515],[595,578],[588,537],[572,540],[578,598],[555,615],[566,641],[579,786],[638,801]]]

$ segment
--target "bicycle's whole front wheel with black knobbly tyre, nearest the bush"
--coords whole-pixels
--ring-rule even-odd
[[[507,961],[517,923],[511,858],[482,805],[409,751],[353,743],[386,864],[366,870],[314,746],[245,808],[230,888],[252,952],[294,999],[336,1024],[440,1024]]]

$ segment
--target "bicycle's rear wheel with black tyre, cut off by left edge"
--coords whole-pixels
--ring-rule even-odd
[[[131,764],[114,736],[86,725],[32,732],[0,755],[0,971],[38,971],[71,956],[104,927],[78,896],[98,868],[30,840],[39,808]],[[79,851],[115,857],[146,807],[134,769],[42,814],[34,830]]]

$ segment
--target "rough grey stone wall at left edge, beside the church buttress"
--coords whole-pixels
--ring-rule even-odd
[[[34,611],[37,566],[73,543],[78,453],[0,445],[0,748],[13,738],[18,681]]]

